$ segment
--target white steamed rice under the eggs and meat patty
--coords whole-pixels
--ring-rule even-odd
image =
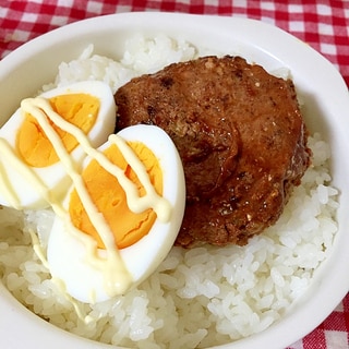
[[[119,62],[87,48],[80,59],[59,67],[53,85],[95,79],[115,92],[133,76],[200,55],[184,41],[139,36]],[[33,251],[29,230],[45,236],[52,221],[50,210],[0,209],[2,282],[20,302],[56,326],[112,345],[205,348],[262,332],[308,289],[337,231],[330,151],[320,134],[309,142],[312,166],[274,227],[245,246],[173,248],[157,272],[125,296],[79,304],[91,320],[87,324]]]

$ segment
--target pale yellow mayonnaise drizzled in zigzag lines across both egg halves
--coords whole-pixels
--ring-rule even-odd
[[[11,165],[20,172],[23,173],[35,188],[43,194],[43,197],[50,203],[52,209],[57,215],[64,219],[67,227],[71,233],[79,238],[86,246],[87,250],[87,262],[92,265],[98,267],[101,273],[104,273],[105,289],[106,292],[112,297],[115,294],[121,294],[125,292],[132,285],[132,277],[127,270],[118,248],[116,246],[112,231],[109,225],[106,222],[101,213],[98,212],[97,207],[93,203],[82,176],[80,174],[80,169],[76,163],[67,152],[62,140],[57,134],[55,129],[51,127],[49,119],[58,125],[60,129],[71,133],[76,141],[80,143],[84,152],[92,158],[96,159],[101,167],[115,176],[120,182],[121,186],[125,191],[128,205],[131,210],[135,213],[143,212],[147,208],[153,208],[157,214],[157,217],[161,221],[168,221],[170,218],[171,207],[166,198],[158,195],[151,183],[149,177],[146,169],[139,157],[133,153],[133,151],[127,145],[124,140],[118,135],[110,135],[109,142],[116,144],[127,161],[131,165],[136,176],[139,177],[141,183],[143,184],[146,194],[142,197],[139,195],[135,183],[128,179],[124,172],[116,165],[109,161],[109,159],[101,153],[95,149],[85,133],[77,127],[71,124],[63,118],[61,118],[51,108],[48,99],[43,97],[27,98],[21,104],[23,112],[32,115],[37,119],[39,125],[43,128],[45,134],[50,140],[61,164],[65,168],[68,176],[71,178],[73,185],[85,207],[85,210],[98,231],[105,246],[106,246],[106,257],[100,256],[97,248],[96,241],[89,236],[82,233],[77,228],[75,228],[70,219],[69,213],[63,207],[62,203],[56,197],[50,195],[48,188],[40,180],[33,169],[31,169],[26,164],[24,164],[5,140],[0,139],[0,149],[7,155]],[[1,168],[0,168],[1,170]],[[3,173],[3,171],[1,171]],[[7,185],[2,185],[7,186]],[[9,188],[9,186],[8,186]],[[13,207],[20,209],[19,198],[16,197],[15,191],[8,189],[5,191],[7,198],[13,204]]]

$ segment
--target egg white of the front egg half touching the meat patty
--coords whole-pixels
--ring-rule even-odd
[[[163,196],[171,206],[169,221],[161,222],[156,219],[145,237],[119,251],[133,285],[137,285],[157,268],[173,245],[184,213],[185,182],[177,148],[161,129],[134,125],[122,130],[119,135],[125,141],[143,142],[155,154],[163,170]],[[108,146],[109,143],[100,149]],[[70,193],[68,195],[70,196]],[[69,205],[68,201],[65,205]],[[81,239],[72,234],[63,219],[57,216],[47,249],[52,277],[63,281],[67,292],[82,302],[93,303],[110,299],[115,294],[106,291],[103,273],[87,263],[86,253],[86,246]],[[106,251],[98,250],[98,253],[104,256]]]

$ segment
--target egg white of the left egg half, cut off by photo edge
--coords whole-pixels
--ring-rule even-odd
[[[50,89],[43,93],[39,97],[51,98],[59,95],[80,93],[89,94],[99,99],[100,106],[97,119],[87,135],[92,146],[98,147],[107,141],[108,135],[113,132],[116,125],[116,105],[111,89],[107,84],[96,81],[79,82],[69,86]],[[19,108],[0,129],[0,139],[4,139],[13,149],[15,148],[16,134],[23,120],[22,108]],[[86,156],[80,145],[70,155],[75,164],[82,164]],[[0,180],[2,180],[4,186],[12,188],[15,191],[19,200],[16,207],[14,207],[16,209],[45,208],[49,206],[50,198],[52,201],[59,200],[71,184],[64,166],[60,161],[43,168],[26,167],[26,169],[33,170],[34,176],[38,177],[43,182],[44,186],[39,189],[34,184],[29,176],[19,170],[11,160],[10,156],[1,156]],[[24,163],[22,164],[24,165]],[[0,192],[0,204],[13,206],[13,203],[7,197],[4,192]]]

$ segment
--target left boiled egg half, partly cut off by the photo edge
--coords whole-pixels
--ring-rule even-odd
[[[63,195],[67,166],[81,166],[84,144],[104,144],[113,132],[116,106],[103,82],[79,82],[24,99],[0,129],[0,204],[44,208]],[[83,134],[83,135],[82,135]]]

